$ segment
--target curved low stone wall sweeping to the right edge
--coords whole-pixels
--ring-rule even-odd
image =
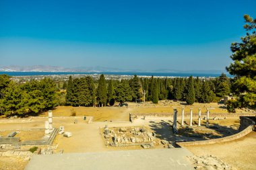
[[[192,142],[177,142],[176,144],[179,146],[193,146],[193,145],[216,144],[216,143],[228,142],[249,134],[250,132],[253,131],[253,129],[254,129],[254,126],[250,125],[250,126],[247,126],[247,128],[245,128],[241,132],[238,132],[237,134],[233,134],[230,136],[226,136],[224,138],[214,138],[210,140],[200,140],[200,141],[192,141]]]

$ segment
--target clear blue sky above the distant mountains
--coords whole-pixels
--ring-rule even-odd
[[[224,70],[255,0],[1,0],[0,66]]]

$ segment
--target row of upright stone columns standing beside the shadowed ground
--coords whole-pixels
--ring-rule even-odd
[[[173,128],[176,128],[177,129],[177,109],[174,108],[173,109],[174,112],[173,112]],[[198,109],[198,126],[201,126],[201,108]],[[206,117],[206,126],[209,125],[209,114],[210,114],[210,109],[207,109],[207,117]],[[181,111],[181,126],[184,126],[184,108],[182,108],[182,111]],[[193,110],[192,108],[190,109],[190,121],[189,121],[189,126],[193,126]]]

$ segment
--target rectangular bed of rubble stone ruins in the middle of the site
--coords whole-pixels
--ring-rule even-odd
[[[156,144],[156,134],[148,128],[136,127],[113,127],[105,126],[102,134],[106,140],[106,146],[139,146],[150,148]]]

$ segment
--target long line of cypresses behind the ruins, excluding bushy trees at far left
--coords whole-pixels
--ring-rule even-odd
[[[230,79],[222,74],[217,79],[189,78],[139,78],[106,80],[104,75],[96,82],[91,77],[72,79],[67,83],[67,105],[106,106],[115,101],[146,101],[158,103],[158,100],[175,99],[193,104],[210,103],[230,93]]]

